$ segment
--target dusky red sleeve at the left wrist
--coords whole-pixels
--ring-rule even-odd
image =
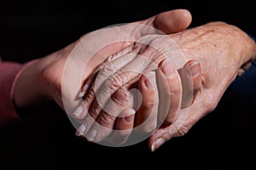
[[[22,65],[0,60],[0,125],[19,119],[12,99],[12,88]]]

